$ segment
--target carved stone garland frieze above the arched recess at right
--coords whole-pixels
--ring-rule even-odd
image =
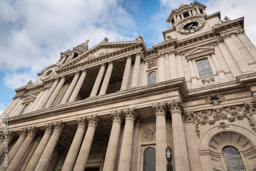
[[[220,119],[228,120],[228,122],[239,121],[243,119],[247,119],[249,122],[249,126],[256,133],[255,123],[250,118],[250,110],[248,109],[248,105],[243,106],[228,106],[228,108],[215,108],[210,111],[204,110],[197,113],[190,112],[185,113],[185,118],[187,120],[193,118],[196,128],[196,134],[198,138],[200,138],[200,125],[214,125],[216,121]],[[228,126],[223,125],[224,122],[221,122],[221,126],[219,128],[226,129]]]

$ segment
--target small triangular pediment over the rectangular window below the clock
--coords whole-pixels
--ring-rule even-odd
[[[210,55],[210,53],[214,52],[214,47],[197,47],[191,51],[189,51],[187,54],[185,54],[186,59],[194,59],[197,57]]]

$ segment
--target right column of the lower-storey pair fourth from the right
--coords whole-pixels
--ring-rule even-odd
[[[59,139],[59,136],[61,134],[61,131],[64,128],[64,124],[61,121],[54,122],[53,126],[54,126],[54,131],[52,133],[52,136],[51,136],[49,142],[46,145],[44,153],[42,153],[42,156],[35,168],[36,171],[45,171],[46,170],[46,168],[51,160],[53,150],[54,150],[56,143]]]

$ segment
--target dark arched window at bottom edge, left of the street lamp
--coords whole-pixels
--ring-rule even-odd
[[[146,148],[143,157],[143,171],[156,170],[156,150],[152,147]]]

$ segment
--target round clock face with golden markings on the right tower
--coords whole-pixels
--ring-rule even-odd
[[[179,27],[179,32],[183,34],[193,33],[198,31],[203,25],[204,22],[201,19],[190,19]]]

